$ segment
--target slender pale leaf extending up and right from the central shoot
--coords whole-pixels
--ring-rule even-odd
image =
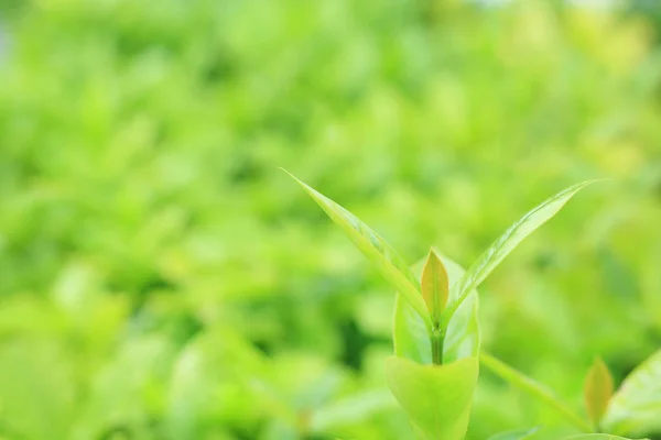
[[[581,189],[597,182],[588,180],[574,185],[551,197],[533,210],[529,211],[519,221],[512,224],[479,258],[468,268],[459,283],[453,286],[457,289],[454,295],[457,299],[451,302],[446,310],[449,320],[457,307],[468,294],[477,288],[481,282],[509,255],[528,235],[555,216],[562,207]]]

